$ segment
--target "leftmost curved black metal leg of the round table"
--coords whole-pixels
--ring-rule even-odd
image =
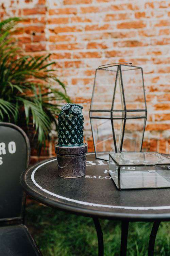
[[[98,256],[103,256],[104,255],[103,233],[100,226],[100,222],[99,222],[99,219],[96,217],[93,217],[92,219],[95,224],[97,238],[98,238]]]

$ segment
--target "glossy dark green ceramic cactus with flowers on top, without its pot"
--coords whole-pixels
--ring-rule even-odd
[[[83,107],[67,103],[58,116],[58,145],[81,145],[83,143]]]

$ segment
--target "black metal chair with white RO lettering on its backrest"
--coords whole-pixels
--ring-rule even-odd
[[[0,123],[0,256],[41,255],[24,225],[25,194],[19,184],[30,144],[16,125]]]

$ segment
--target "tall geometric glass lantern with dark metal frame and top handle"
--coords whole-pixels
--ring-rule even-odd
[[[140,152],[147,119],[142,68],[114,63],[96,69],[89,116],[96,158]]]

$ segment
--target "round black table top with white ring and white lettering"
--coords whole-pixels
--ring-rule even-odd
[[[76,179],[57,174],[50,158],[21,175],[23,189],[37,201],[85,216],[129,221],[170,220],[170,188],[119,191],[109,175],[108,162],[88,153],[86,175]]]

